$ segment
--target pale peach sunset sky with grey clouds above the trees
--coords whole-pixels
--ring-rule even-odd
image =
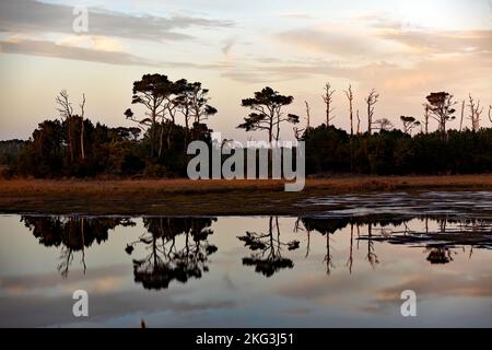
[[[82,33],[73,30],[80,7],[89,13]],[[144,73],[202,82],[219,109],[210,127],[236,140],[266,138],[236,128],[248,115],[241,100],[265,86],[294,96],[285,113],[305,116],[308,102],[312,126],[320,125],[326,82],[336,90],[332,122],[344,129],[349,84],[362,130],[372,89],[375,118],[396,127],[401,115],[420,119],[435,91],[459,102],[471,93],[490,126],[491,20],[492,0],[0,0],[0,139],[28,138],[56,118],[62,89],[75,110],[85,93],[93,122],[131,126],[124,112],[144,113],[131,106]],[[282,139],[293,137],[285,125]]]

